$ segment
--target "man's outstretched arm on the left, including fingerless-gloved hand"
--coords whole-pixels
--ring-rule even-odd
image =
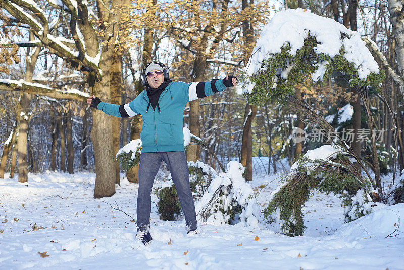
[[[95,96],[91,96],[87,99],[87,106],[92,107],[98,110],[102,110],[108,115],[113,115],[116,117],[131,117],[135,116],[138,113],[132,108],[133,106],[130,106],[130,103],[127,104],[122,104],[122,105],[116,105],[116,104],[110,104],[106,102],[102,102],[99,98]]]

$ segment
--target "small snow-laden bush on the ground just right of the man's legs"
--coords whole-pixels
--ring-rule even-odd
[[[227,164],[227,171],[219,173],[209,185],[209,192],[196,203],[199,222],[260,226],[262,214],[254,192],[243,178],[244,167],[236,162]]]

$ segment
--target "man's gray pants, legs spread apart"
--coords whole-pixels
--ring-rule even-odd
[[[184,151],[141,153],[139,164],[139,191],[137,194],[137,226],[143,232],[150,227],[151,188],[160,164],[164,160],[170,170],[173,183],[185,216],[188,231],[196,229],[195,204],[189,187],[189,171]]]

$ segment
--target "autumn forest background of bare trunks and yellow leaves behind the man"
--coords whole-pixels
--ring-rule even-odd
[[[119,119],[87,109],[86,97],[124,104],[143,90],[140,71],[152,60],[168,64],[185,82],[240,76],[262,27],[274,13],[301,7],[357,30],[386,73],[381,91],[370,91],[380,172],[404,169],[400,1],[71,1],[0,0],[0,177],[28,171],[96,172],[94,197],[112,196],[119,184],[115,154],[138,139],[141,116]],[[401,30],[400,30],[401,29]],[[270,42],[270,41],[269,41]],[[221,163],[239,160],[252,178],[252,157],[293,163],[327,142],[294,143],[296,127],[313,132],[288,105],[247,103],[242,84],[189,103],[184,125],[203,139]],[[347,142],[372,162],[366,112],[355,89],[340,75],[326,84],[296,85],[295,97],[312,106]],[[390,113],[390,110],[392,113]],[[368,134],[370,136],[371,134]],[[365,136],[365,137],[364,137]],[[312,138],[313,139],[313,138]],[[211,152],[192,145],[188,160],[218,169]],[[281,163],[282,164],[282,163]],[[136,168],[127,173],[136,182]]]

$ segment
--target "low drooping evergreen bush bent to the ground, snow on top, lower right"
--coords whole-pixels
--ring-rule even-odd
[[[277,220],[285,235],[302,235],[305,229],[302,207],[312,190],[334,192],[343,199],[346,221],[354,220],[382,204],[372,202],[371,183],[361,177],[350,156],[336,145],[323,145],[295,162],[281,185],[271,193],[264,215]],[[377,195],[377,193],[375,193]]]

